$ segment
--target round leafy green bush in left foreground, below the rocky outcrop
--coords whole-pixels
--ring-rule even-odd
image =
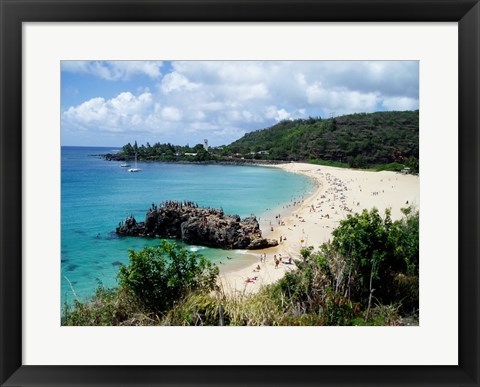
[[[205,257],[162,241],[157,248],[129,250],[130,263],[120,267],[120,286],[147,311],[160,314],[192,291],[216,287],[218,267]]]

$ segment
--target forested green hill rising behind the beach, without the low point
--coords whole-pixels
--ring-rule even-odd
[[[418,127],[418,110],[298,119],[247,133],[228,150],[255,159],[323,160],[359,168],[415,164]]]

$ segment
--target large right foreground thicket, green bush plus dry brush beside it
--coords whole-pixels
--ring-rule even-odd
[[[298,270],[272,286],[283,313],[315,315],[322,325],[392,325],[400,312],[415,313],[419,216],[403,213],[395,222],[388,210],[383,218],[376,209],[350,215],[331,243],[302,249]]]

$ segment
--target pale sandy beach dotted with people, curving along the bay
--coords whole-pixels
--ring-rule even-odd
[[[295,270],[294,263],[284,262],[290,257],[293,262],[301,259],[302,247],[318,249],[331,238],[332,231],[348,214],[373,207],[384,214],[385,209],[391,208],[392,218],[396,220],[402,217],[401,208],[413,205],[420,209],[418,176],[305,163],[270,167],[308,176],[315,180],[317,188],[311,196],[292,203],[272,219],[261,220],[263,235],[281,240],[281,243],[274,248],[251,251],[258,256],[258,261],[246,268],[221,272],[221,286],[232,295],[257,292],[263,285],[278,281],[287,271]],[[260,259],[262,254],[266,254],[266,259]],[[282,258],[277,268],[275,256]],[[260,270],[257,270],[258,266]],[[255,280],[246,282],[255,277]]]

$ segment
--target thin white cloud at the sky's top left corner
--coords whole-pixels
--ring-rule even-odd
[[[62,61],[62,71],[91,74],[109,80],[128,80],[134,75],[158,78],[162,62],[159,61]]]

